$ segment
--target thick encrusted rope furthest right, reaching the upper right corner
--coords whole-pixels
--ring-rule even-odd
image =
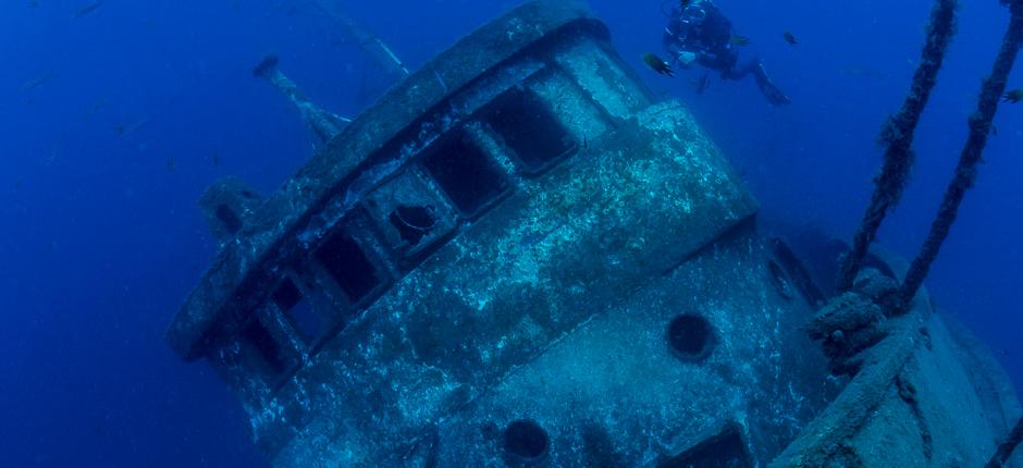
[[[970,137],[966,139],[966,145],[959,157],[956,175],[945,192],[945,198],[941,200],[938,214],[930,224],[930,233],[902,282],[899,296],[903,309],[916,295],[916,291],[923,284],[924,279],[927,278],[932,262],[938,256],[941,244],[948,237],[952,223],[956,222],[959,206],[966,190],[973,186],[976,180],[977,164],[981,162],[984,146],[987,144],[987,135],[991,131],[991,119],[998,112],[998,100],[1006,90],[1006,82],[1009,79],[1009,73],[1012,72],[1012,65],[1015,63],[1020,45],[1023,44],[1023,1],[1013,1],[1010,9],[1012,17],[1009,21],[1009,29],[1002,38],[1001,50],[998,51],[998,57],[995,58],[991,74],[981,87],[977,110],[970,116]]]

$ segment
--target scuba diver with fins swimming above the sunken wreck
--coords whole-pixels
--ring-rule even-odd
[[[739,63],[739,52],[731,45],[731,22],[711,0],[692,0],[671,11],[671,20],[664,29],[664,48],[676,64],[689,67],[699,63],[720,72],[724,79],[742,79],[752,73],[768,102],[775,106],[790,102],[771,83],[760,60]]]

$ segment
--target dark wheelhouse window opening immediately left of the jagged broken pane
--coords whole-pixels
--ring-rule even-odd
[[[316,256],[353,301],[361,299],[380,284],[366,254],[355,239],[343,232],[328,238]]]

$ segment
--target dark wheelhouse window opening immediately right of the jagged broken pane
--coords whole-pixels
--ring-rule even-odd
[[[469,217],[501,196],[508,186],[501,169],[465,135],[454,135],[439,143],[422,164],[452,202]]]

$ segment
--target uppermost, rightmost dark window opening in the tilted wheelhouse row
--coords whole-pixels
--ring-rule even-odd
[[[527,172],[543,171],[578,147],[547,104],[528,90],[506,91],[484,119],[515,151]]]

